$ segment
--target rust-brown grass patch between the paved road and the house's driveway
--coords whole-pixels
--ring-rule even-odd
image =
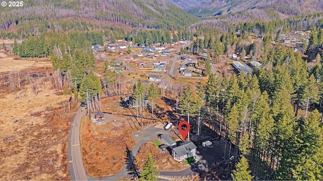
[[[82,120],[82,158],[90,176],[101,177],[120,172],[126,165],[126,147],[131,149],[136,144],[126,123],[118,127],[118,131],[114,131],[113,127],[112,122],[97,127],[87,117]]]

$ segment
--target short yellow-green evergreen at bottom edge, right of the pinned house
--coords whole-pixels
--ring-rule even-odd
[[[248,170],[249,164],[247,158],[242,156],[240,161],[236,165],[236,169],[233,170],[231,176],[233,180],[251,180],[253,176],[251,176],[251,171]]]

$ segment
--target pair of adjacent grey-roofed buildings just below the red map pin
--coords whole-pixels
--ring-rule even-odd
[[[191,141],[177,145],[177,143],[166,134],[160,135],[160,140],[165,143],[164,145],[160,146],[161,149],[165,150],[167,147],[169,147],[172,150],[173,158],[178,161],[182,161],[186,158],[196,155],[197,147]]]

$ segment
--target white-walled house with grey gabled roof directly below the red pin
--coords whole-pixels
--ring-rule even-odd
[[[180,146],[173,148],[172,156],[178,161],[189,158],[196,154],[196,146],[194,143],[188,141],[181,143]]]

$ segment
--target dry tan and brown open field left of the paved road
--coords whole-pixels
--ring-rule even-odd
[[[19,60],[0,54],[1,82],[6,72],[21,70],[40,73],[51,63]],[[37,62],[38,61],[38,62]],[[63,105],[70,98],[52,91],[48,81],[35,95],[30,84],[14,93],[8,84],[0,85],[0,179],[70,179],[67,168],[67,138],[73,114],[64,115]],[[76,104],[71,102],[71,111]],[[66,109],[65,109],[66,111]]]

